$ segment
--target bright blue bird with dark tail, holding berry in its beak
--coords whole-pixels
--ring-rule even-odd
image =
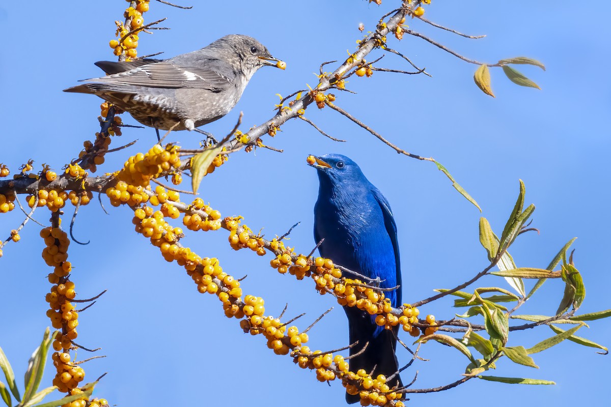
[[[379,277],[381,287],[401,286],[397,225],[384,195],[365,178],[356,163],[340,154],[315,157],[320,189],[314,207],[314,239],[323,240],[321,256],[365,275]],[[349,278],[357,276],[346,275]],[[401,304],[401,288],[384,292],[393,307]],[[354,355],[368,344],[363,353],[350,359],[350,370],[373,371],[373,377],[389,377],[398,370],[395,348],[398,326],[392,331],[375,323],[375,316],[356,307],[344,307],[348,317],[350,349]],[[374,369],[375,367],[375,369]],[[395,375],[387,384],[401,387]],[[356,403],[359,395],[346,393],[346,402]]]

